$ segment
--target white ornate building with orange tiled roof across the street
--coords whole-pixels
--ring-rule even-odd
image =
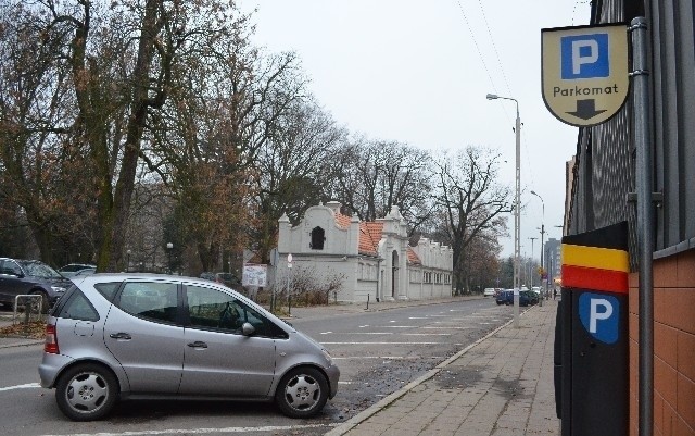
[[[337,201],[308,208],[296,226],[279,220],[280,274],[314,270],[320,276],[342,277],[340,301],[428,299],[452,294],[453,250],[421,238],[408,244],[405,220],[393,207],[383,219],[361,222],[340,213]]]

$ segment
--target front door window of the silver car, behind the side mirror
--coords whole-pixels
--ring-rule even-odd
[[[229,294],[202,286],[187,286],[191,327],[241,333],[243,323],[255,328],[254,336],[269,336],[268,321]]]

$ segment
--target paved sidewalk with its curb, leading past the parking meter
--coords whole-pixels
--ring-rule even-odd
[[[557,301],[526,311],[327,436],[559,435]]]

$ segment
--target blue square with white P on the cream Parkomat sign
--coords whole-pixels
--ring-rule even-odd
[[[608,77],[608,34],[574,35],[560,38],[563,79]]]

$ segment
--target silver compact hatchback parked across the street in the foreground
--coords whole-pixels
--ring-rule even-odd
[[[53,308],[39,375],[66,416],[90,421],[137,398],[275,400],[309,418],[336,396],[340,371],[319,344],[220,284],[94,274]]]

